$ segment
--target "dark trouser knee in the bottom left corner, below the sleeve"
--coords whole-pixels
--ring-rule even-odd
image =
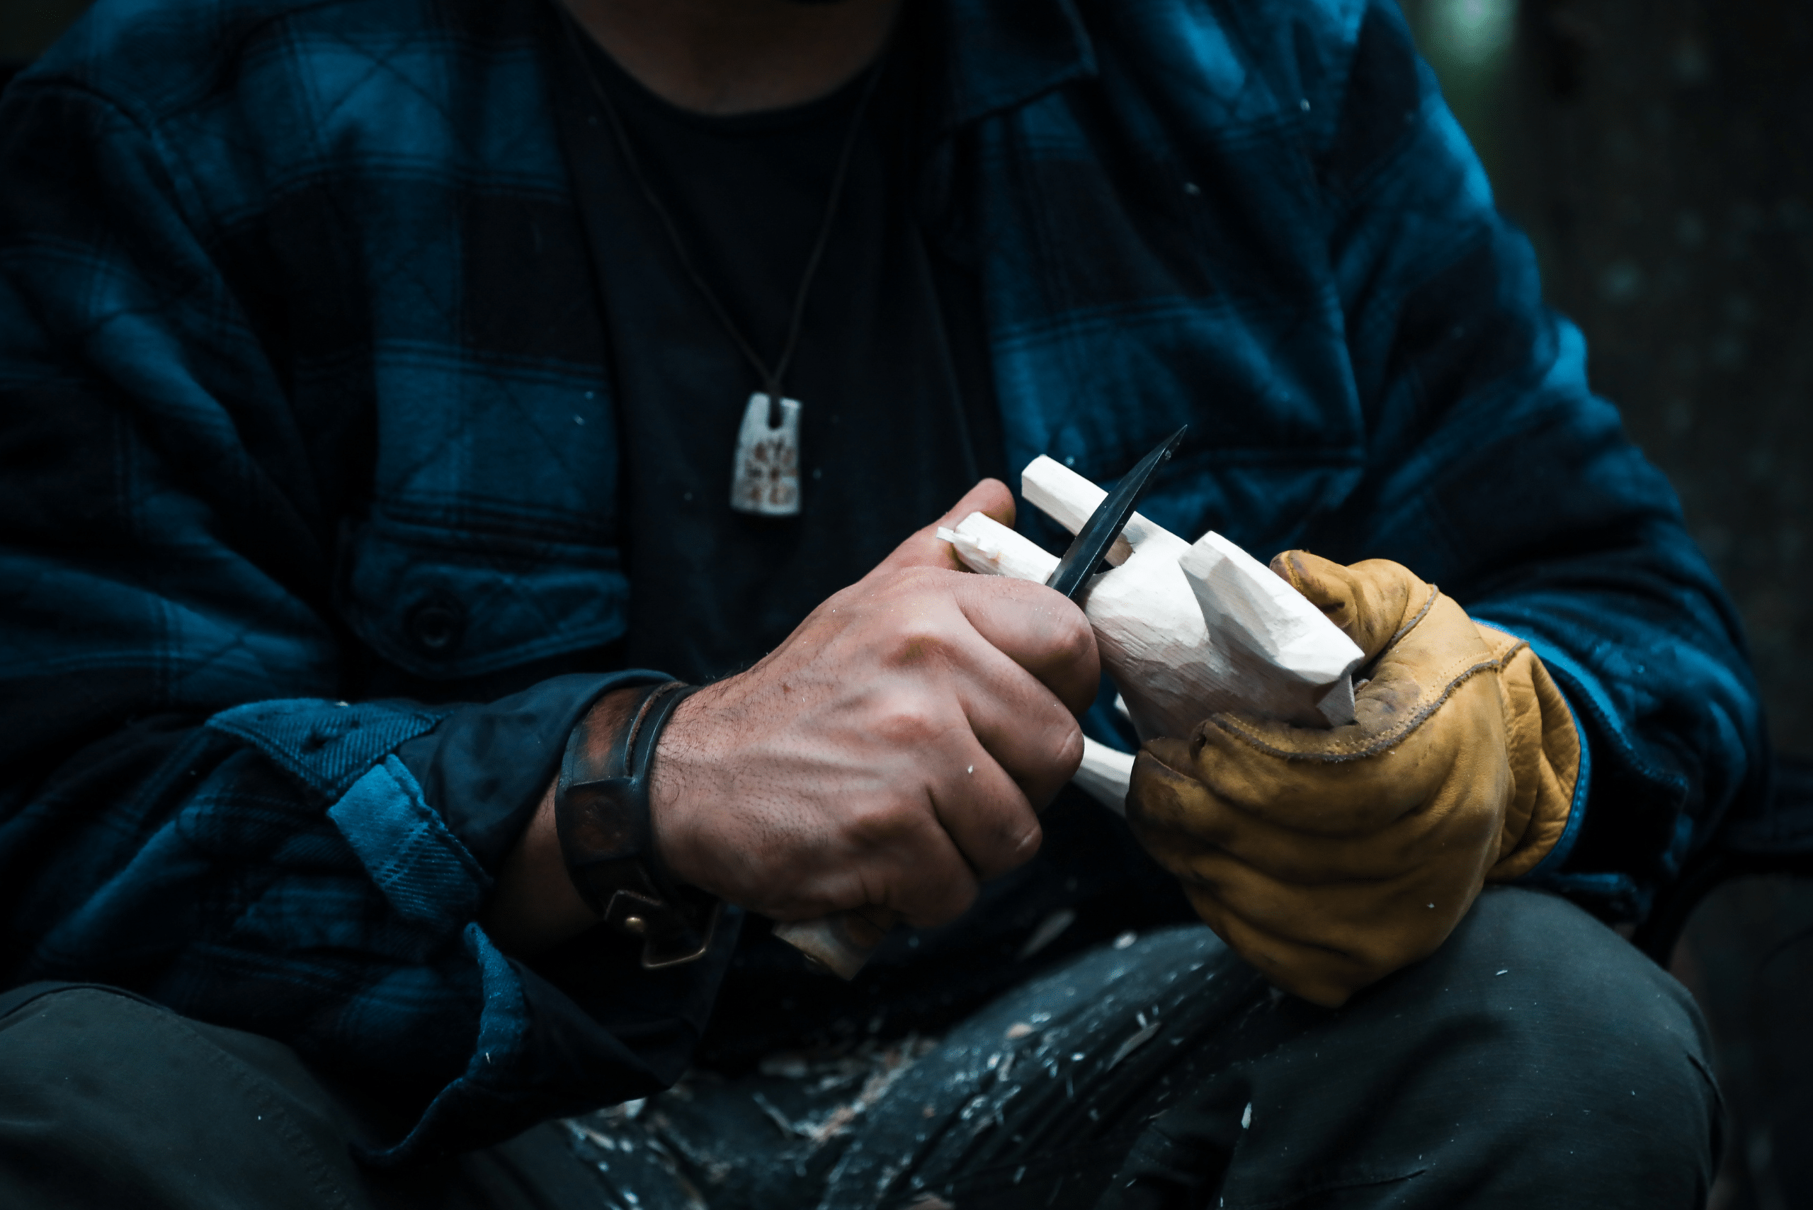
[[[359,1165],[361,1127],[283,1043],[112,987],[0,994],[7,1210],[582,1210],[589,1165],[538,1127],[439,1167]]]

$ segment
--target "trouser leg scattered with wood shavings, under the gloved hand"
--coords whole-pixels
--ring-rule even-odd
[[[1209,1192],[1226,1206],[1686,1206],[1713,1170],[1704,1054],[1664,971],[1559,898],[1492,889],[1438,955],[1340,1011],[1177,927],[1008,993],[910,1065],[872,1047],[868,1098],[836,1089],[865,1071],[850,1056],[785,1056],[587,1128],[665,1148],[714,1210],[1193,1206]]]

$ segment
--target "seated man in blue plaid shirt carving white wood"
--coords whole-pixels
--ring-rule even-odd
[[[5,1205],[1706,1196],[1606,922],[1759,793],[1739,625],[1387,0],[100,0],[0,400]],[[1122,822],[936,523],[1180,424],[1369,663]]]

